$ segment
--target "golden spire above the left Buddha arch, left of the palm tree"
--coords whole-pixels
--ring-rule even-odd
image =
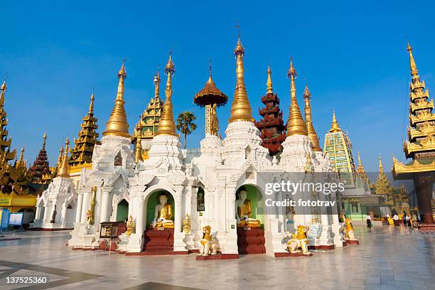
[[[166,100],[163,105],[163,112],[161,113],[161,117],[159,120],[159,129],[157,129],[157,135],[175,135],[176,126],[173,121],[173,112],[172,112],[172,75],[175,73],[175,65],[172,62],[172,51],[169,53],[168,63],[165,67],[165,73],[168,76],[166,80]]]

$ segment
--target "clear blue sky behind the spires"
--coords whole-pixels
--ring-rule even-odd
[[[268,63],[274,91],[288,116],[286,71],[293,56],[299,104],[303,104],[307,78],[313,95],[313,122],[322,145],[335,109],[340,126],[348,129],[355,156],[361,151],[367,171],[377,170],[377,154],[382,154],[385,169],[390,169],[393,154],[403,161],[410,79],[405,35],[414,48],[421,77],[434,89],[433,3],[217,3],[4,2],[0,75],[8,73],[6,110],[12,146],[25,146],[31,163],[46,129],[53,165],[63,137],[77,136],[92,87],[101,136],[114,104],[122,58],[127,59],[124,98],[132,130],[154,94],[154,72],[166,64],[171,46],[176,65],[174,114],[195,113],[198,129],[188,136],[188,147],[199,146],[204,112],[192,100],[207,80],[210,57],[213,78],[230,97],[227,106],[218,110],[222,131],[230,116],[238,21],[246,50],[245,84],[256,119],[266,91]]]

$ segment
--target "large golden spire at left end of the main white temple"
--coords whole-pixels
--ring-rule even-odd
[[[117,98],[115,99],[115,104],[112,109],[112,114],[110,114],[109,121],[106,123],[106,130],[103,132],[103,136],[122,136],[130,138],[129,135],[129,124],[127,123],[127,115],[124,109],[124,80],[127,78],[127,73],[125,72],[124,61],[122,61],[121,70],[119,70],[119,84]]]

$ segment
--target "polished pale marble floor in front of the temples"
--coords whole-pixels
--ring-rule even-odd
[[[196,261],[186,256],[126,257],[65,247],[68,232],[17,232],[0,240],[1,289],[435,289],[435,232],[355,227],[360,245],[313,257],[264,254]],[[7,284],[46,276],[47,284]]]

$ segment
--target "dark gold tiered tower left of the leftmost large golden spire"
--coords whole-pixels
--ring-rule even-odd
[[[71,172],[80,171],[83,167],[92,167],[92,153],[94,151],[95,144],[97,144],[97,121],[94,116],[94,92],[92,92],[90,98],[89,112],[82,118],[82,124],[80,124],[80,131],[78,138],[74,139],[74,148],[71,151],[71,156],[68,159]]]

